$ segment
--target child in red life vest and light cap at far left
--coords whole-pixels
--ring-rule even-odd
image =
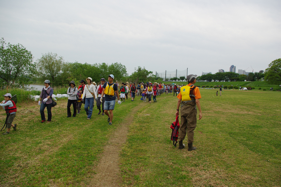
[[[4,96],[4,101],[0,103],[7,113],[7,132],[4,132],[3,135],[9,134],[11,130],[11,126],[14,128],[14,131],[17,130],[17,124],[13,125],[12,122],[16,117],[17,106],[14,101],[11,100],[12,95],[11,93],[6,93]]]

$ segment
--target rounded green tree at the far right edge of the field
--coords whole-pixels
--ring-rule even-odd
[[[264,72],[264,79],[270,82],[281,82],[281,58],[273,60]]]

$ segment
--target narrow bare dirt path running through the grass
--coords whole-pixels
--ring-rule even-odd
[[[135,107],[131,113],[135,113],[139,107]],[[114,118],[114,117],[113,117]],[[126,118],[128,119],[128,118]],[[129,121],[125,120],[117,127],[104,147],[101,160],[96,167],[97,174],[93,176],[89,187],[117,187],[121,181],[119,174],[119,151],[126,142],[129,130]]]

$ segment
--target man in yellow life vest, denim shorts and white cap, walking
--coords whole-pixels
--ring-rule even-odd
[[[121,104],[119,94],[118,94],[118,87],[117,84],[113,82],[114,75],[108,75],[108,82],[103,85],[103,90],[101,93],[101,98],[105,95],[105,102],[104,102],[104,113],[108,116],[107,122],[108,125],[112,125],[113,119],[113,110],[115,107],[115,96],[118,98],[118,104]],[[102,101],[102,99],[100,99]],[[109,113],[108,113],[109,111]]]

